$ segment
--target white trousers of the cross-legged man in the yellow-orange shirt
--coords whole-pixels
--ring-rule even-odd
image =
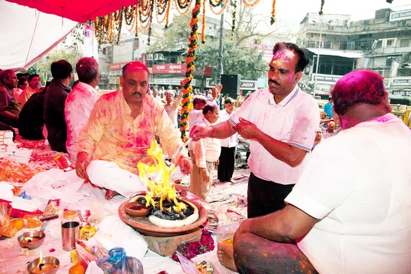
[[[92,184],[114,190],[124,197],[146,191],[147,183],[138,175],[121,169],[114,162],[93,160],[88,164],[87,175]]]

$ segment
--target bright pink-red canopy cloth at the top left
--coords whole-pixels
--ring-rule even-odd
[[[25,5],[47,14],[55,14],[79,23],[94,20],[110,12],[120,10],[122,6],[135,5],[138,0],[6,0]]]

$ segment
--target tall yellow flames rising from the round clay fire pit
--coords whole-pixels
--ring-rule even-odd
[[[147,182],[150,190],[147,192],[145,198],[147,199],[146,206],[153,206],[157,208],[160,206],[160,210],[163,210],[162,202],[168,200],[174,203],[173,209],[175,212],[182,212],[187,206],[184,203],[179,203],[177,201],[177,195],[175,192],[175,186],[173,184],[172,175],[175,171],[175,166],[168,167],[164,160],[162,160],[162,148],[157,145],[157,142],[153,140],[151,142],[151,147],[147,151],[147,155],[153,160],[154,164],[152,166],[147,166],[142,162],[138,163],[138,171],[140,172],[140,177]],[[147,173],[156,174],[155,177],[149,179]],[[158,182],[157,184],[155,182]],[[154,201],[154,198],[160,198],[160,201]]]

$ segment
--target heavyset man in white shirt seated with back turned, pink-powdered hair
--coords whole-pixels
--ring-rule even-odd
[[[411,169],[398,164],[411,160],[411,131],[390,113],[379,73],[348,73],[332,98],[344,130],[316,147],[284,210],[240,225],[242,273],[298,272],[298,264],[306,273],[309,263],[319,273],[411,273]],[[280,243],[294,239],[298,247]],[[219,257],[235,267],[228,250]]]

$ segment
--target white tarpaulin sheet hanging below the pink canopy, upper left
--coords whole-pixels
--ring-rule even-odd
[[[29,68],[75,25],[75,21],[0,0],[0,69]]]

